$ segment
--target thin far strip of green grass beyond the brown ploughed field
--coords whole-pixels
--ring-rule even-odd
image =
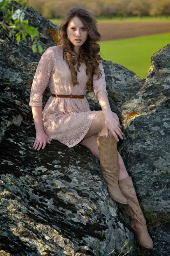
[[[62,19],[49,19],[54,24],[59,24],[62,22]],[[170,22],[170,16],[162,16],[162,17],[127,17],[127,18],[112,18],[112,19],[104,19],[104,18],[96,18],[97,22]]]

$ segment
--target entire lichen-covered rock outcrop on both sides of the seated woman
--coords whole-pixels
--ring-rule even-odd
[[[16,3],[16,8],[17,3]],[[29,25],[38,28],[44,51],[55,46],[57,26],[33,8]],[[2,17],[1,17],[2,20]],[[0,39],[0,255],[137,255],[129,217],[107,190],[100,162],[83,145],[68,148],[57,140],[35,151],[29,97],[39,53],[31,38],[17,45],[1,28]],[[108,99],[122,125],[118,151],[132,176],[144,211],[165,219],[169,212],[170,46],[152,56],[146,80],[103,60]],[[168,73],[169,72],[169,73]],[[43,106],[50,96],[49,88]],[[91,110],[101,109],[94,93]],[[151,222],[151,221],[150,221]],[[155,248],[148,255],[169,255],[169,224],[151,229]],[[164,247],[163,247],[164,242]],[[161,251],[162,250],[162,251]],[[167,254],[168,253],[168,254]]]

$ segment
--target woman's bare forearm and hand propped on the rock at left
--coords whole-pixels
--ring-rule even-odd
[[[44,131],[43,114],[42,114],[43,107],[31,106],[31,108],[32,108],[32,114],[34,119],[35,130],[36,130],[36,138],[35,138],[33,147],[35,150],[36,149],[40,150],[41,146],[43,145],[42,149],[44,149],[46,144],[51,142],[49,140],[48,135]]]

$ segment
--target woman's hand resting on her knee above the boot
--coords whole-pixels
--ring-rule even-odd
[[[105,119],[105,126],[106,126],[106,137],[108,136],[108,133],[110,130],[117,141],[119,141],[118,136],[123,140],[123,137],[122,137],[123,132],[120,129],[121,125],[119,125],[119,123],[113,116]]]

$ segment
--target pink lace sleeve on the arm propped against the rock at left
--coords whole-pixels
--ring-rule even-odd
[[[30,106],[43,106],[43,93],[48,85],[54,66],[54,56],[51,47],[41,56],[31,86]]]

